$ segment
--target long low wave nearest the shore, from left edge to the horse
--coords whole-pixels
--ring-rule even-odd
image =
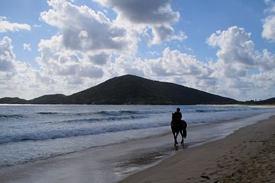
[[[148,129],[151,127],[162,127],[170,125],[167,122],[161,123],[125,123],[120,125],[108,125],[99,127],[83,127],[74,130],[52,130],[47,132],[32,132],[25,134],[14,134],[14,135],[4,135],[0,136],[0,144],[3,143],[15,143],[21,141],[45,141],[56,138],[69,138],[73,136],[86,136],[86,135],[96,135],[105,134],[110,132],[122,132],[127,130],[141,130]]]

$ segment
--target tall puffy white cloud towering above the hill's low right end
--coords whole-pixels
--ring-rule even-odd
[[[267,49],[262,53],[254,50],[250,35],[245,29],[234,26],[217,31],[206,40],[211,47],[219,48],[217,61],[209,63],[214,71],[212,76],[219,80],[219,93],[237,99],[243,95],[259,99],[259,93],[265,88],[266,93],[272,95],[275,80],[270,75],[275,73],[275,55]]]

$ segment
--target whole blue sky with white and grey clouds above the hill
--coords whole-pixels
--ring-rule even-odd
[[[126,74],[275,97],[275,0],[0,1],[0,98],[71,95]]]

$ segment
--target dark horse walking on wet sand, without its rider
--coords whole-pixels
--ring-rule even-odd
[[[184,120],[175,120],[172,118],[171,121],[171,130],[174,136],[175,144],[177,145],[177,135],[181,134],[181,145],[184,145],[184,138],[186,138],[186,127],[187,123]]]

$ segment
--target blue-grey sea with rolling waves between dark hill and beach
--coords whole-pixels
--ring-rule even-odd
[[[188,127],[275,112],[260,106],[0,105],[0,167],[168,133],[177,107]]]

